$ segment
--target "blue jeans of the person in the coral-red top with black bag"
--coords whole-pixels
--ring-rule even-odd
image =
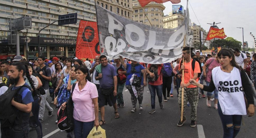
[[[163,85],[148,85],[150,95],[151,95],[151,108],[155,109],[155,100],[156,100],[156,92],[159,103],[162,103],[162,89]]]

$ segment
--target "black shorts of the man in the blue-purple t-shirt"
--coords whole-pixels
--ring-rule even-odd
[[[109,104],[109,106],[113,106],[116,103],[116,96],[114,96],[114,88],[112,89],[112,93],[110,95],[103,95],[101,94],[101,88],[99,88],[99,107],[105,106]]]

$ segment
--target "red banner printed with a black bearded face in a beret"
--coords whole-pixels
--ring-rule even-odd
[[[99,52],[99,37],[96,22],[80,21],[76,38],[75,56],[85,61],[93,60]]]

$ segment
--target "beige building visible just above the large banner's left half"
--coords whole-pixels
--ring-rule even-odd
[[[132,20],[132,0],[96,0],[105,9]]]

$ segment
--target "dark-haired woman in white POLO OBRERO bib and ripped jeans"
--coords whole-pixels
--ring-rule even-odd
[[[224,130],[223,137],[234,138],[240,130],[242,115],[254,115],[253,87],[250,86],[245,71],[236,64],[231,50],[223,48],[217,56],[221,66],[212,70],[209,86],[199,84],[194,80],[190,82],[207,92],[212,92],[217,88],[219,92],[218,113]],[[243,91],[249,104],[247,110]]]

